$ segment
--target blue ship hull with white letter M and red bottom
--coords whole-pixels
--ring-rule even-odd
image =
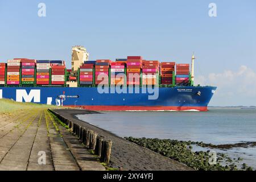
[[[0,88],[0,98],[90,110],[207,111],[216,89],[212,86],[176,86],[145,92],[144,88],[123,88],[122,93],[119,93],[120,90],[105,88],[102,93],[97,87],[3,87]]]

